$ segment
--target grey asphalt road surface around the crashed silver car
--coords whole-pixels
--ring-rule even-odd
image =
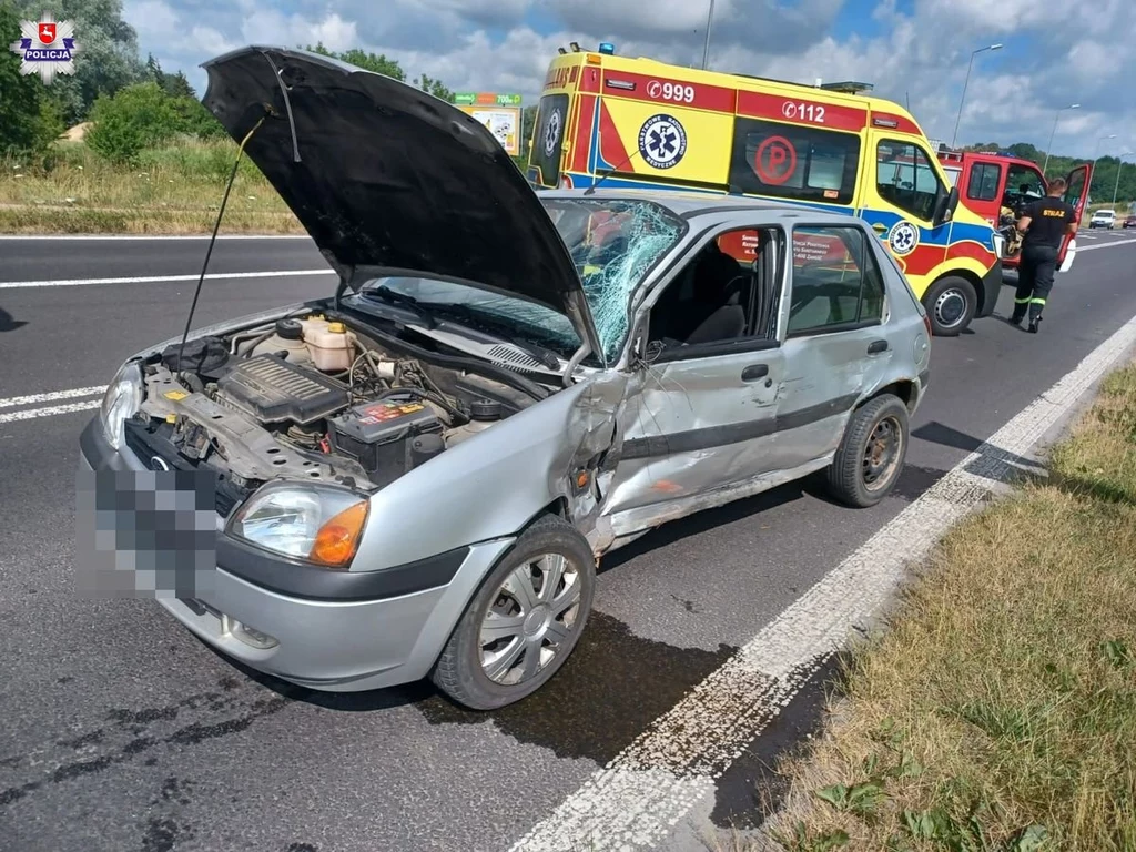
[[[211,653],[152,602],[76,596],[74,470],[93,410],[50,411],[98,396],[57,392],[105,384],[124,357],[179,333],[193,282],[3,282],[194,275],[206,243],[0,240],[0,849],[507,849],[1136,316],[1136,243],[1120,231],[1087,237],[1083,248],[1102,248],[1059,279],[1041,335],[989,318],[935,341],[932,392],[893,498],[852,511],[804,483],[644,537],[604,562],[596,613],[565,670],[491,716],[424,685],[290,688]],[[304,240],[231,240],[211,270],[325,266]],[[197,324],[333,282],[211,279]],[[1006,287],[1000,315],[1011,300]],[[808,724],[807,709],[794,712],[790,722]],[[745,816],[750,780],[724,779],[708,829]]]

